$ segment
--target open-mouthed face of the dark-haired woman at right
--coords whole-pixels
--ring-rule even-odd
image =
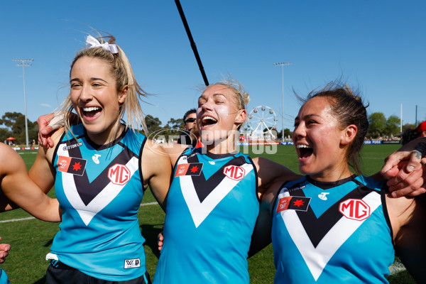
[[[332,115],[327,98],[314,97],[305,102],[295,119],[293,131],[300,172],[322,181],[349,177],[351,173],[345,158],[346,130]]]

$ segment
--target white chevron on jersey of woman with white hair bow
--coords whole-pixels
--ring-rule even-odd
[[[58,155],[65,155],[69,157],[67,151],[58,151]],[[126,163],[126,167],[130,170],[130,177],[133,173],[138,170],[138,158],[133,157]],[[89,202],[89,204],[84,204],[80,195],[77,192],[77,187],[75,187],[74,175],[70,173],[62,173],[62,187],[64,189],[65,195],[67,196],[68,201],[74,207],[80,217],[82,218],[84,224],[89,225],[92,221],[94,215],[99,211],[104,209],[109,202],[114,200],[114,198],[119,195],[124,185],[114,185],[114,183],[109,182],[109,184],[104,187],[104,189],[99,192],[99,194],[94,197],[94,199]]]

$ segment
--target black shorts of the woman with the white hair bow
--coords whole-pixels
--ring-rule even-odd
[[[55,263],[53,265],[53,263]],[[94,278],[82,273],[76,268],[67,266],[60,261],[50,261],[46,272],[46,284],[151,284],[148,271],[144,275],[132,280],[109,281]]]

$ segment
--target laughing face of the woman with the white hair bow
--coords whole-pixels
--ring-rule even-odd
[[[126,99],[127,89],[117,92],[109,70],[106,61],[84,56],[75,62],[70,75],[72,105],[89,137],[99,144],[114,140],[111,130],[119,121],[119,105]]]

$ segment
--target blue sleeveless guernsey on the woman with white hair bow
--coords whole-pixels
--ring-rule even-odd
[[[129,130],[98,146],[82,124],[72,132],[77,141],[64,134],[53,156],[62,222],[50,250],[62,263],[94,278],[138,278],[146,271],[137,218],[146,138]]]

